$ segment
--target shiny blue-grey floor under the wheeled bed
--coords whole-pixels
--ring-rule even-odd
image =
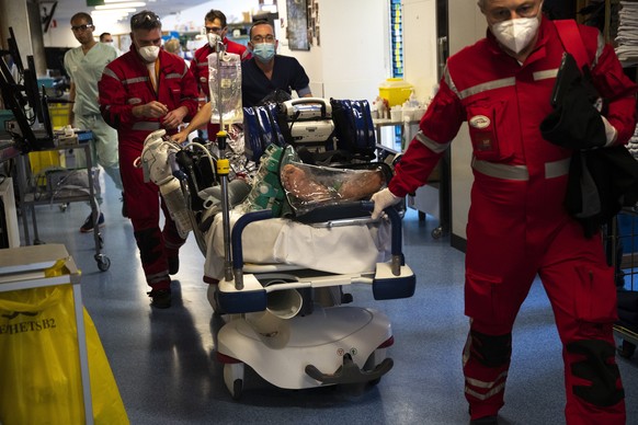
[[[121,216],[119,193],[107,180],[102,209],[100,272],[92,233],[79,227],[83,203],[37,207],[39,239],[64,243],[82,269],[84,305],[93,319],[132,424],[467,424],[462,348],[468,320],[463,314],[464,254],[444,237],[433,240],[436,221],[405,218],[405,254],[418,277],[403,300],[375,301],[367,287],[353,287],[354,303],[390,318],[394,369],[375,387],[283,390],[249,370],[243,395],[233,401],[215,358],[223,322],[212,314],[202,282],[204,256],[191,237],[173,282],[173,307],[149,307],[129,221]],[[103,185],[104,187],[104,185]],[[353,253],[353,255],[356,255]],[[638,355],[618,358],[629,424],[638,424]],[[514,331],[512,367],[501,424],[561,424],[563,379],[560,344],[539,284],[532,288]]]

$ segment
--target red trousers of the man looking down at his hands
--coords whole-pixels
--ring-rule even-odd
[[[171,279],[168,257],[178,256],[185,240],[180,237],[175,222],[161,198],[159,187],[153,183],[145,183],[143,170],[133,166],[133,161],[140,153],[141,149],[137,147],[119,145],[124,202],[133,223],[147,284],[152,289],[169,289]],[[164,216],[161,230],[160,207]]]

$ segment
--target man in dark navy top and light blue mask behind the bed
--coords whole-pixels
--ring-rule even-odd
[[[241,64],[241,96],[244,107],[258,105],[275,90],[288,94],[293,90],[299,97],[310,97],[310,79],[299,61],[290,56],[277,55],[278,42],[267,21],[257,21],[250,28],[248,47],[252,58]]]

